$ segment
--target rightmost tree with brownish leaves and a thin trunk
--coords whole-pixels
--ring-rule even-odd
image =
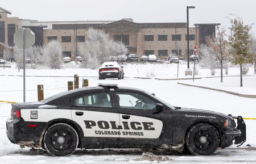
[[[240,86],[242,83],[242,65],[253,64],[255,55],[249,51],[250,48],[250,26],[244,26],[242,18],[229,18],[232,24],[233,36],[229,37],[230,54],[232,54],[231,61],[235,65],[240,65]]]

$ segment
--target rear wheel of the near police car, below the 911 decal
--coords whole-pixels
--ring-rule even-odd
[[[79,144],[79,136],[68,124],[58,123],[49,127],[44,134],[44,148],[53,156],[69,156]]]

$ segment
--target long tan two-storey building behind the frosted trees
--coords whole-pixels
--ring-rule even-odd
[[[13,33],[19,27],[30,28],[36,36],[35,45],[42,46],[57,40],[63,48],[63,56],[76,56],[76,47],[88,40],[86,32],[92,27],[109,33],[111,39],[122,41],[129,53],[156,54],[164,58],[168,54],[187,54],[187,23],[135,23],[133,19],[109,21],[38,22],[8,17],[10,11],[0,7],[0,58],[7,49],[13,49]],[[195,24],[189,28],[189,49],[205,44],[205,37],[215,34],[220,24]]]

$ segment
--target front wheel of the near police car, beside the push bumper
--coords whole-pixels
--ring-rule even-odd
[[[193,155],[211,155],[219,145],[218,131],[206,123],[193,125],[185,136],[185,146]]]

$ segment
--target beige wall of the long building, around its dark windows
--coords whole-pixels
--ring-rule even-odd
[[[187,34],[187,28],[176,28],[176,34],[181,35],[180,41],[172,41],[172,35],[175,34],[175,28],[141,28],[139,33],[141,33],[141,43],[138,43],[138,31],[129,30],[125,32],[119,31],[106,31],[109,33],[110,39],[113,39],[114,35],[129,35],[129,45],[133,47],[141,46],[141,53],[144,54],[144,50],[154,50],[154,53],[158,55],[158,50],[167,49],[168,54],[172,53],[173,49],[181,49],[181,54],[187,55],[187,41],[185,40],[185,35]],[[154,35],[154,41],[144,41],[145,34]],[[167,35],[167,41],[158,41],[158,35]],[[189,34],[195,34],[195,40],[189,41],[190,49],[196,43],[199,43],[199,28],[189,28]],[[77,35],[84,35],[85,41],[88,40],[86,36],[86,29],[77,30]],[[71,56],[75,56],[75,31],[74,30],[44,30],[44,44],[48,42],[48,36],[57,36],[57,40],[61,43],[63,51],[71,51]],[[71,36],[71,42],[62,43],[61,36]],[[82,45],[85,43],[78,43]],[[164,58],[166,56],[159,56],[159,58]]]

